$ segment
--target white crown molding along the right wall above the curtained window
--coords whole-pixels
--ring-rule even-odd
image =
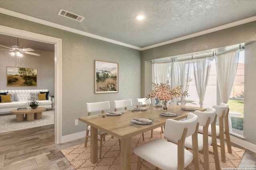
[[[175,43],[177,41],[182,41],[184,39],[189,39],[189,38],[197,37],[197,36],[200,36],[200,35],[212,33],[212,32],[215,32],[215,31],[220,31],[222,29],[234,27],[234,26],[237,26],[237,25],[242,25],[244,23],[248,23],[248,22],[252,22],[252,21],[256,21],[256,16],[252,16],[252,17],[249,17],[249,18],[245,18],[243,20],[238,20],[238,21],[234,21],[234,22],[227,23],[227,24],[224,24],[224,25],[220,25],[218,27],[206,29],[204,31],[200,31],[200,32],[197,32],[197,33],[192,33],[190,35],[185,35],[183,37],[179,37],[179,38],[171,39],[171,40],[168,40],[168,41],[164,41],[162,43],[157,43],[157,44],[154,44],[154,45],[143,47],[143,48],[141,48],[141,51],[146,50],[146,49],[152,49],[154,47],[159,47],[159,46],[170,44],[170,43]]]

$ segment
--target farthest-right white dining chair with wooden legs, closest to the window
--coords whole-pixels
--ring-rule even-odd
[[[225,139],[224,134],[226,136],[226,144],[228,148],[228,153],[232,153],[231,149],[231,142],[230,142],[230,135],[229,135],[229,126],[228,126],[228,104],[221,103],[220,106],[212,106],[214,109],[216,109],[217,117],[219,117],[219,125],[215,125],[216,127],[216,136],[218,139],[220,139],[220,152],[221,152],[221,161],[226,162],[226,154],[225,154]],[[209,125],[208,128],[208,134],[211,136],[211,125]],[[202,133],[202,127],[199,126],[198,129],[199,133]]]

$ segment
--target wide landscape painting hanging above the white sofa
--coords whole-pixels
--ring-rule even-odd
[[[7,87],[37,86],[37,69],[7,67]]]

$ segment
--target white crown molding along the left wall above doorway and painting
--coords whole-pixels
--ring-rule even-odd
[[[52,23],[50,21],[45,21],[45,20],[42,20],[42,19],[39,19],[39,18],[35,18],[35,17],[32,17],[32,16],[25,15],[25,14],[20,14],[18,12],[14,12],[14,11],[7,10],[7,9],[4,9],[4,8],[0,8],[0,13],[6,14],[6,15],[9,15],[9,16],[14,16],[14,17],[17,17],[17,18],[21,18],[23,20],[28,20],[28,21],[40,23],[40,24],[47,25],[47,26],[50,26],[50,27],[62,29],[62,30],[69,31],[69,32],[72,32],[72,33],[84,35],[86,37],[91,37],[91,38],[99,39],[99,40],[106,41],[106,42],[109,42],[109,43],[122,45],[124,47],[129,47],[129,48],[132,48],[132,49],[141,50],[140,47],[136,47],[134,45],[122,43],[120,41],[116,41],[116,40],[113,40],[113,39],[101,37],[101,36],[98,36],[98,35],[95,35],[95,34],[92,34],[92,33],[80,31],[78,29],[66,27],[66,26],[63,26],[63,25],[60,25],[60,24],[57,24],[57,23]]]

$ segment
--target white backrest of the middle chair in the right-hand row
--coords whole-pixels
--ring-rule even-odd
[[[194,114],[198,116],[199,125],[200,126],[205,126],[206,123],[207,123],[208,117],[210,117],[209,124],[212,124],[214,122],[215,115],[216,115],[216,109],[214,109],[212,107],[208,107],[206,109],[206,111],[196,110],[194,112]]]

